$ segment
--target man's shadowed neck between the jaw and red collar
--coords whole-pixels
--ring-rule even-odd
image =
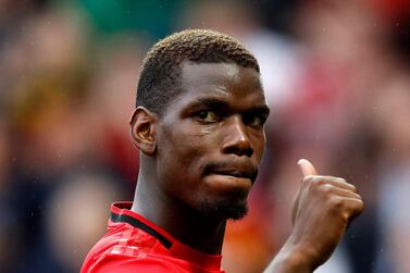
[[[208,255],[220,255],[226,220],[204,216],[161,191],[154,173],[141,162],[132,210],[150,220],[178,241]]]

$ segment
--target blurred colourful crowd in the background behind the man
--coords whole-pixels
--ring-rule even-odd
[[[278,251],[308,158],[366,206],[318,272],[410,272],[407,0],[0,1],[0,272],[78,272],[110,203],[134,197],[144,53],[184,28],[241,40],[272,109],[225,270],[261,272]]]

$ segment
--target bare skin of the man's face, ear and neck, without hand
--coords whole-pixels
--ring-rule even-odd
[[[185,63],[181,88],[161,117],[144,108],[132,117],[142,151],[133,210],[179,241],[216,255],[226,219],[244,214],[226,210],[246,210],[269,108],[259,74],[236,64]]]

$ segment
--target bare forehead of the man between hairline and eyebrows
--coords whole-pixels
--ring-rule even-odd
[[[183,100],[199,97],[219,97],[231,103],[253,102],[265,104],[259,73],[235,63],[182,64],[181,87]]]

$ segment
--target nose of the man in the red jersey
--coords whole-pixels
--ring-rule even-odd
[[[246,125],[240,116],[226,120],[226,135],[222,145],[223,153],[234,153],[239,157],[252,157],[253,148],[246,132]]]

